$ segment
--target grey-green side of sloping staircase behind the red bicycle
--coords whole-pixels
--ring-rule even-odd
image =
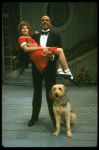
[[[72,59],[68,62],[68,65],[74,77],[77,76],[81,67],[90,68],[88,69],[88,74],[90,75],[91,82],[96,81],[98,75],[98,47]]]

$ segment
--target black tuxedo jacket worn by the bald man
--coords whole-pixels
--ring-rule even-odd
[[[32,36],[32,38],[37,42],[38,45],[40,45],[40,36],[41,36],[41,32],[38,34],[34,34]],[[61,48],[62,44],[61,44],[61,38],[60,35],[57,35],[51,31],[49,31],[49,35],[48,35],[48,39],[47,39],[47,47],[58,47]],[[48,73],[48,75],[53,74],[53,76],[56,76],[56,59],[57,56],[55,56],[54,60],[49,60],[48,64],[46,66],[46,72]],[[35,71],[35,65],[33,63],[32,65],[32,72]]]

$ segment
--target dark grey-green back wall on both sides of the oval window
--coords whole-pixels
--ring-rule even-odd
[[[68,2],[70,7],[69,23],[62,27],[51,27],[51,30],[60,34],[63,49],[72,48],[79,41],[97,33],[97,3],[94,2]],[[46,15],[48,2],[22,2],[21,21],[27,21],[32,33],[41,31],[40,20]]]

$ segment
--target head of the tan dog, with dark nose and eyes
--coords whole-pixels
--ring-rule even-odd
[[[66,96],[67,88],[63,84],[55,84],[51,89],[51,96],[54,100],[60,100]]]

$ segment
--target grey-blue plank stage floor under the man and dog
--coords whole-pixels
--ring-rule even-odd
[[[98,132],[98,87],[67,86],[67,97],[77,119],[71,126],[72,138],[61,125],[58,137],[50,119],[45,87],[39,119],[28,127],[31,118],[33,87],[2,84],[2,146],[3,147],[96,147]]]

